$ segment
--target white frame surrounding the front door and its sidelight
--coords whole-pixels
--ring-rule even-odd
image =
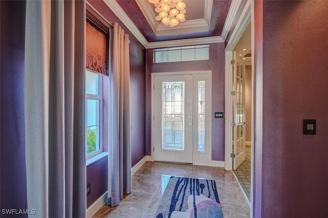
[[[200,75],[200,74],[208,74],[209,75],[209,82],[207,84],[208,89],[207,89],[207,94],[208,98],[212,99],[212,71],[182,71],[182,72],[161,72],[161,73],[152,73],[151,74],[151,84],[152,84],[152,92],[151,92],[151,105],[152,105],[152,124],[151,124],[151,161],[154,161],[154,81],[155,81],[155,76],[169,76],[169,75],[188,75],[188,74],[194,74],[194,75]],[[194,90],[195,92],[195,90]],[[195,96],[195,95],[194,95]],[[206,120],[206,127],[207,127],[207,135],[206,135],[206,141],[207,141],[207,152],[203,154],[198,154],[195,151],[195,140],[193,143],[193,164],[194,165],[208,165],[208,166],[213,166],[214,164],[212,161],[212,101],[209,102],[208,106],[208,118]],[[195,125],[194,125],[195,128]],[[195,139],[195,137],[194,137]],[[215,162],[215,161],[214,161]]]

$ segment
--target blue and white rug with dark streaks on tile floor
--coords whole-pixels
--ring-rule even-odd
[[[215,181],[171,177],[155,217],[222,218]]]

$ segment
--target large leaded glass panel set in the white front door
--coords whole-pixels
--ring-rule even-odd
[[[185,150],[185,82],[162,82],[162,149]]]

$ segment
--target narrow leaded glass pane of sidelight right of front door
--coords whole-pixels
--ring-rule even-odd
[[[205,81],[198,81],[198,147],[197,151],[205,151]]]

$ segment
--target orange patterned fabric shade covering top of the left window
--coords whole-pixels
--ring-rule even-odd
[[[108,75],[108,35],[86,21],[86,68]]]

